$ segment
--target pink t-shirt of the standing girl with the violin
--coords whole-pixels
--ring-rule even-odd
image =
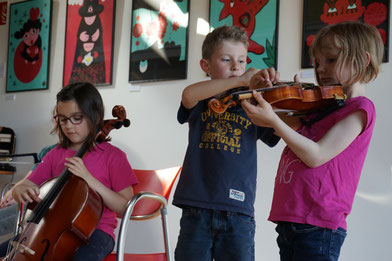
[[[298,130],[303,136],[318,141],[334,124],[358,110],[367,116],[364,130],[343,152],[325,164],[309,168],[285,147],[268,220],[347,229],[346,217],[351,212],[376,120],[374,105],[363,96],[348,99],[343,108]]]

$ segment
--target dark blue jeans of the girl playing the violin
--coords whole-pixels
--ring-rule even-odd
[[[336,261],[347,235],[346,230],[307,224],[279,222],[277,243],[281,261]]]

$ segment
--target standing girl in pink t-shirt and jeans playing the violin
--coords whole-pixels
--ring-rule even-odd
[[[257,105],[242,101],[254,124],[274,128],[287,144],[269,216],[277,223],[281,260],[338,260],[376,118],[364,86],[377,77],[383,49],[379,32],[367,24],[321,29],[310,50],[317,82],[341,84],[347,100],[297,131],[260,94],[253,92]],[[267,86],[278,78],[270,68],[254,75],[251,85]]]

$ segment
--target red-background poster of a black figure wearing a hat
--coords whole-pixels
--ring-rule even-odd
[[[63,86],[112,84],[115,11],[116,0],[67,0]]]

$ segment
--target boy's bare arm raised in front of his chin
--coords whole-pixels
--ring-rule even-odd
[[[213,97],[224,91],[249,86],[251,77],[259,70],[249,68],[244,74],[226,79],[213,79],[189,85],[182,92],[182,104],[185,108],[193,108],[199,101]]]

